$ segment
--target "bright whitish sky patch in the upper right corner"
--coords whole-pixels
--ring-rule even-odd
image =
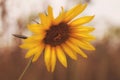
[[[97,35],[104,35],[108,24],[120,27],[120,0],[93,0],[88,11],[96,15],[95,33]]]

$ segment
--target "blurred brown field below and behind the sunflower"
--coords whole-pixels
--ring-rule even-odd
[[[79,56],[77,61],[68,58],[68,68],[57,63],[54,73],[49,73],[43,62],[43,56],[31,65],[23,80],[120,80],[120,43],[111,46],[112,36],[97,41],[95,52],[86,52],[88,59]],[[1,50],[0,50],[1,51]],[[9,50],[0,56],[0,80],[17,80],[28,60],[19,48]],[[10,53],[10,55],[7,55]]]

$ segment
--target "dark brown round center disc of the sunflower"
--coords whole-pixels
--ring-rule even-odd
[[[57,46],[64,43],[69,37],[69,26],[65,23],[52,25],[44,38],[45,44]]]

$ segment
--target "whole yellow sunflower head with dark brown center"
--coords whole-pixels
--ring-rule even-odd
[[[78,4],[69,11],[61,12],[54,18],[51,6],[48,6],[48,13],[40,13],[39,24],[29,24],[28,29],[33,33],[30,37],[23,40],[20,46],[28,49],[25,58],[33,56],[32,62],[38,60],[41,54],[44,55],[45,65],[48,71],[53,72],[56,60],[67,67],[66,55],[73,60],[77,60],[77,54],[87,58],[87,55],[81,50],[95,50],[89,43],[94,40],[90,34],[94,30],[91,26],[83,26],[90,22],[94,16],[84,16],[72,20],[80,14],[87,4]]]

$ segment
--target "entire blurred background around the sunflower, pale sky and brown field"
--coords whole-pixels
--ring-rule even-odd
[[[57,62],[54,73],[46,70],[42,55],[22,80],[120,80],[120,0],[0,0],[0,80],[18,80],[28,63],[21,40],[12,34],[30,35],[26,25],[48,5],[57,16],[61,6],[68,10],[80,2],[88,3],[80,16],[95,15],[89,25],[96,28],[96,51],[85,51],[88,59],[68,57],[67,69]]]

